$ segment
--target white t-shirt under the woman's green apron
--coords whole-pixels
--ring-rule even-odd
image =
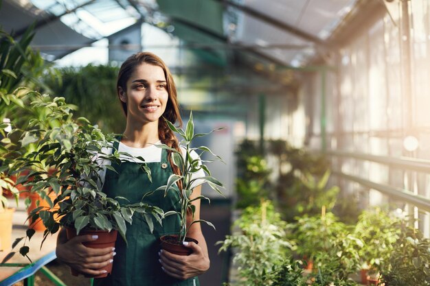
[[[131,158],[128,158],[126,156],[121,155],[120,158],[123,161],[133,161],[135,163],[159,163],[161,162],[161,152],[163,152],[162,148],[157,147],[157,144],[161,144],[161,141],[158,141],[157,143],[153,144],[153,145],[149,145],[148,147],[143,147],[143,148],[135,148],[135,147],[128,147],[127,145],[123,144],[120,142],[120,144],[118,145],[118,152],[124,152],[127,154],[130,154],[133,157],[142,157],[144,158],[145,161],[139,160],[137,158],[133,158],[133,160],[131,160]],[[185,147],[181,146],[181,151],[182,151],[182,156],[185,158],[186,155],[186,150]],[[107,148],[105,150],[102,150],[102,152],[104,154],[111,154],[112,153],[112,147]],[[199,154],[197,154],[195,151],[190,152],[191,158],[194,160],[196,158],[199,158]],[[111,161],[110,160],[104,160],[102,158],[95,158],[95,160],[100,163],[100,165],[102,167],[106,166],[106,165],[111,165]],[[101,185],[100,185],[100,189],[102,188],[103,184],[104,184],[104,178],[106,177],[106,167],[104,167],[102,169],[102,171],[99,172],[100,175],[100,180],[101,180]],[[196,171],[194,174],[192,174],[191,178],[201,178],[205,176],[205,171],[203,171],[203,169],[200,169],[199,171]],[[167,182],[166,182],[167,183]],[[202,180],[195,180],[192,183],[192,189],[199,186],[199,184],[202,184],[203,181]]]

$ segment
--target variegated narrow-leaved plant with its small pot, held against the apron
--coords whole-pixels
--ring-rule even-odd
[[[207,222],[204,219],[194,220],[195,208],[192,202],[194,200],[201,200],[201,199],[205,199],[208,201],[210,200],[209,198],[206,198],[203,195],[199,195],[198,197],[192,199],[191,196],[193,192],[192,190],[193,183],[196,182],[196,180],[199,180],[199,182],[201,182],[202,184],[204,182],[207,182],[207,184],[209,184],[209,186],[212,189],[220,193],[220,195],[223,195],[223,193],[219,189],[220,187],[223,187],[223,183],[221,183],[216,178],[211,176],[210,170],[207,168],[205,164],[199,163],[201,161],[200,157],[204,152],[209,152],[210,154],[212,154],[214,156],[214,160],[223,161],[222,158],[213,154],[212,151],[205,146],[191,147],[192,141],[196,137],[204,136],[223,128],[218,128],[216,130],[212,130],[211,132],[204,133],[204,134],[203,133],[194,134],[194,122],[192,120],[192,112],[190,113],[190,120],[188,121],[185,130],[181,128],[176,128],[169,121],[167,121],[167,123],[170,130],[172,130],[173,132],[177,132],[183,137],[183,140],[181,141],[180,145],[185,147],[185,158],[183,154],[181,154],[181,152],[179,152],[174,148],[168,147],[167,145],[163,145],[163,144],[157,145],[157,147],[161,147],[163,149],[167,149],[167,150],[170,150],[170,152],[172,152],[171,154],[172,162],[174,165],[179,167],[179,170],[181,173],[180,175],[172,174],[168,178],[168,182],[166,182],[165,185],[155,190],[155,191],[164,191],[165,195],[167,195],[169,191],[177,192],[179,195],[179,204],[181,206],[180,207],[181,211],[178,211],[178,212],[172,211],[172,212],[166,213],[166,215],[172,215],[172,214],[179,215],[179,229],[177,230],[176,235],[164,235],[160,237],[161,248],[166,249],[169,252],[173,252],[181,255],[187,255],[187,254],[190,254],[190,248],[186,248],[185,246],[183,246],[183,241],[194,241],[198,243],[198,241],[196,241],[195,239],[192,239],[191,237],[187,237],[188,230],[190,226],[192,226],[192,224],[196,224],[198,222],[205,222],[209,226],[212,226],[213,228],[215,228],[215,226],[212,223]],[[192,159],[190,155],[192,151],[200,151],[199,158]],[[201,162],[207,163],[212,161],[202,160]],[[199,171],[200,169],[203,169],[207,174],[207,176],[192,178],[192,174],[194,174],[196,171]],[[190,215],[190,217],[188,217],[188,215]],[[188,222],[189,219],[192,219],[192,221]]]

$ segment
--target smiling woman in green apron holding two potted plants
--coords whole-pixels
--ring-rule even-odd
[[[163,143],[181,150],[176,136],[163,119],[181,125],[177,91],[166,64],[153,53],[139,52],[122,64],[117,78],[117,94],[126,115],[126,130],[120,143],[113,147],[120,152],[142,156],[151,169],[152,182],[143,174],[138,163],[125,162],[113,165],[116,172],[106,170],[102,190],[112,198],[121,195],[131,203],[140,202],[144,193],[166,184],[172,173],[179,174],[168,151],[155,146]],[[157,205],[164,211],[178,210],[174,193],[170,192],[168,197],[164,197],[163,192],[154,193],[147,196],[145,202]],[[192,197],[200,194],[201,186],[196,186]],[[193,204],[196,206],[194,219],[199,219],[200,200],[195,200]],[[137,215],[127,228],[128,246],[119,238],[113,249],[86,248],[82,242],[97,239],[91,235],[67,241],[62,230],[58,236],[56,254],[60,261],[87,275],[102,274],[100,268],[113,263],[112,274],[95,279],[95,285],[199,285],[196,276],[210,266],[200,224],[192,224],[188,231],[188,236],[199,241],[199,244],[185,243],[192,249],[189,256],[159,250],[159,237],[177,232],[177,225],[178,218],[172,215],[163,220],[163,226],[156,226],[151,234],[143,217]]]

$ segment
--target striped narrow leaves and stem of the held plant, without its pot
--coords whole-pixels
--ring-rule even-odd
[[[177,132],[179,135],[182,136],[183,140],[179,143],[179,145],[183,146],[185,151],[184,151],[184,154],[182,154],[182,152],[179,152],[174,148],[168,147],[167,145],[164,145],[164,144],[156,145],[157,147],[161,147],[163,149],[170,150],[170,152],[172,152],[171,153],[172,162],[174,165],[179,167],[180,175],[178,174],[170,175],[170,177],[168,178],[167,184],[159,187],[155,191],[164,191],[165,195],[167,195],[169,191],[176,191],[178,193],[181,210],[179,212],[175,212],[175,211],[168,212],[166,213],[166,215],[171,215],[172,213],[176,213],[177,215],[179,215],[179,224],[180,224],[180,228],[178,230],[179,241],[185,241],[185,237],[188,233],[188,230],[190,229],[190,226],[192,226],[192,224],[195,224],[197,222],[205,222],[209,226],[212,226],[213,228],[215,228],[215,226],[211,222],[207,222],[204,219],[194,220],[195,207],[192,204],[192,202],[194,200],[201,200],[201,199],[210,201],[210,199],[205,197],[204,195],[199,195],[196,198],[191,198],[192,192],[193,192],[192,187],[194,182],[198,181],[201,184],[207,182],[207,184],[209,184],[209,186],[214,191],[218,192],[220,195],[223,195],[223,193],[220,191],[220,188],[224,187],[222,182],[220,182],[219,180],[217,180],[211,175],[210,170],[207,168],[207,165],[205,165],[205,163],[212,163],[218,160],[224,163],[223,159],[220,158],[220,156],[215,155],[208,147],[205,147],[205,146],[192,147],[192,142],[197,137],[205,136],[207,134],[210,134],[217,130],[221,130],[223,128],[218,128],[207,133],[194,134],[194,122],[192,119],[192,112],[190,112],[190,120],[188,121],[185,130],[175,127],[168,120],[166,120],[166,122],[168,123],[170,130],[172,130],[173,132]],[[194,159],[192,158],[191,152],[193,151],[199,154],[198,158],[194,158]],[[205,152],[210,153],[214,157],[214,159],[201,160],[201,156]],[[201,169],[205,171],[205,176],[201,176],[198,178],[193,176],[193,174],[195,174],[197,171]],[[177,186],[181,186],[181,188]],[[192,215],[192,222],[187,221],[188,213]]]

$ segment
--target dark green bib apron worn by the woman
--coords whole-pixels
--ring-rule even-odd
[[[117,150],[119,143],[113,147]],[[172,174],[168,161],[167,151],[162,150],[161,162],[146,163],[151,170],[152,182],[142,171],[139,163],[122,162],[113,164],[114,171],[106,170],[106,177],[102,191],[110,198],[122,196],[133,204],[140,202],[142,196],[148,191],[154,191],[167,183]],[[144,202],[159,206],[163,211],[179,211],[179,197],[176,192],[170,191],[164,197],[163,191],[148,195]],[[194,277],[185,281],[168,276],[161,270],[158,259],[160,250],[159,237],[175,233],[179,229],[179,217],[170,215],[163,219],[163,225],[154,223],[152,234],[142,214],[135,213],[133,224],[127,224],[127,243],[120,235],[115,243],[112,274],[106,278],[94,279],[94,285],[100,286],[199,286],[199,278]]]

